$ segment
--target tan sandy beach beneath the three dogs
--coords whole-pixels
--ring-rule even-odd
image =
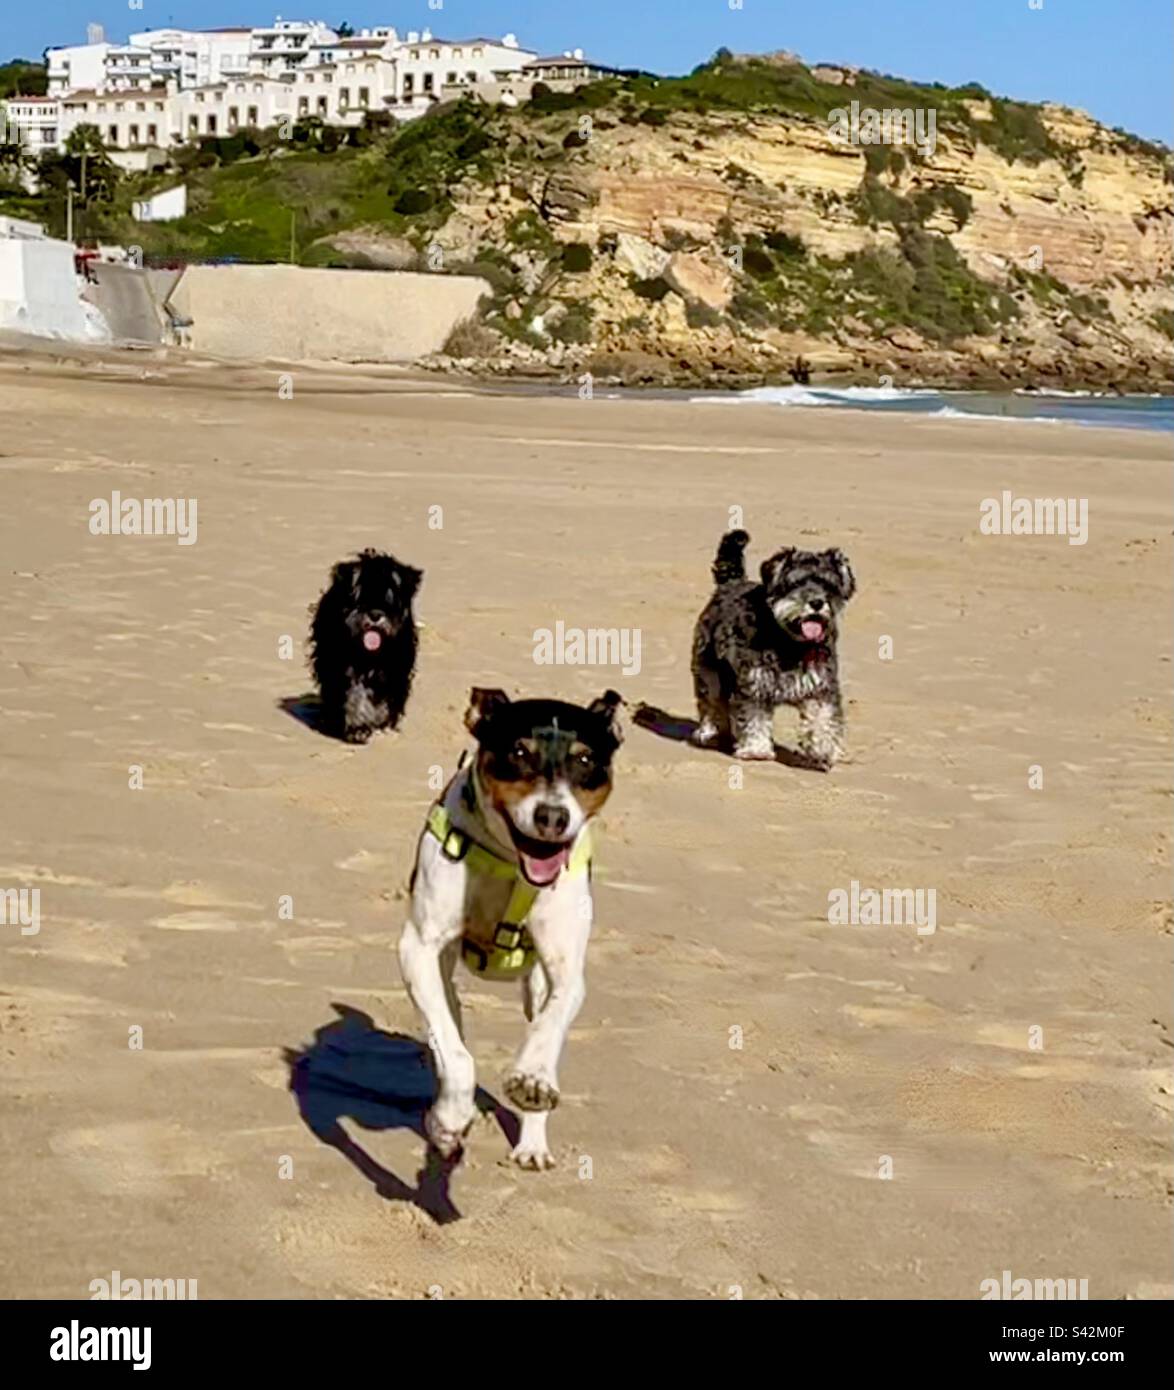
[[[0,926],[0,1294],[973,1300],[1011,1270],[1174,1295],[1168,455],[0,360],[0,890],[40,905]],[[1086,543],[981,534],[1003,489],[1086,498]],[[90,534],[114,492],[197,499],[196,542]],[[689,717],[731,507],[754,567],[853,563],[850,759],[739,767],[627,717],[559,1168],[506,1162],[518,994],[464,976],[492,1099],[438,1182],[395,945],[468,689]],[[347,748],[283,702],[364,545],[425,570],[425,627],[402,731]],[[639,673],[536,666],[557,621],[639,630]],[[935,890],[935,930],[831,924],[852,883]]]

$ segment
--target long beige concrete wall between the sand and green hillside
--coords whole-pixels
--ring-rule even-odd
[[[414,361],[488,293],[472,275],[189,265],[170,302],[189,345],[220,357]]]

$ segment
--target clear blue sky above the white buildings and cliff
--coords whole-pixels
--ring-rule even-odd
[[[85,42],[86,22],[122,39],[178,24],[343,19],[428,25],[446,38],[514,31],[543,51],[582,47],[602,63],[686,72],[716,49],[792,49],[814,60],[1056,100],[1107,125],[1174,143],[1170,0],[0,0],[0,60]],[[1041,0],[1036,0],[1041,3]],[[436,0],[432,0],[436,4]]]

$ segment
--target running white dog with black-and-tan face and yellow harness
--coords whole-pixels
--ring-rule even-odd
[[[500,689],[470,696],[477,752],[428,813],[399,948],[439,1080],[425,1130],[446,1158],[477,1115],[453,979],[463,959],[482,979],[521,981],[528,1027],[504,1083],[524,1112],[511,1158],[522,1168],[554,1165],[546,1116],[559,1104],[559,1058],[586,994],[590,820],[611,792],[621,703],[615,691],[585,709],[511,701]]]

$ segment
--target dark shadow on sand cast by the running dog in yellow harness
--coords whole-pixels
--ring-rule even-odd
[[[360,1009],[332,1005],[338,1017],[314,1033],[304,1048],[286,1048],[289,1088],[306,1126],[317,1138],[336,1148],[372,1184],[385,1201],[411,1202],[436,1225],[460,1220],[449,1195],[449,1180],[460,1155],[442,1158],[428,1144],[415,1186],[377,1162],[343,1129],[343,1119],[365,1130],[410,1129],[427,1141],[424,1115],[436,1094],[436,1073],[428,1048],[404,1033],[383,1033]],[[477,1108],[492,1115],[513,1148],[521,1125],[482,1087]]]

